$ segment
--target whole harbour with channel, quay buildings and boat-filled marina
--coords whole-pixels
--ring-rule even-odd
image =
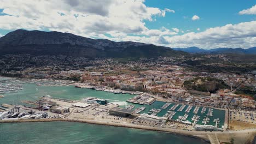
[[[75,88],[72,85],[39,86],[36,83],[22,83],[22,87],[23,89],[19,93],[5,94],[1,98],[1,103],[13,106],[20,105],[22,109],[32,109],[35,112],[30,114],[30,111],[21,111],[18,115],[17,113],[12,113],[12,115],[15,114],[14,117],[4,118],[3,122],[79,121],[123,125],[122,127],[127,127],[127,125],[131,124],[129,127],[145,128],[147,126],[149,129],[158,129],[160,131],[162,128],[164,131],[168,129],[180,131],[183,129],[202,130],[206,128],[209,130],[215,130],[215,128],[218,128],[216,130],[221,130],[225,123],[225,111],[223,110],[173,103],[171,101],[158,101],[144,93],[135,95],[131,93],[115,94],[112,92],[96,91],[96,89]],[[128,101],[134,98],[142,98],[139,102],[143,103],[130,103]],[[48,102],[40,103],[41,107],[39,109],[37,108],[39,106],[37,101],[40,99],[45,99]],[[97,104],[88,100],[94,100]],[[105,100],[107,100],[106,104],[100,104],[101,101]],[[53,106],[50,102],[51,104],[57,103],[60,107]],[[3,106],[0,107],[3,111],[7,110]],[[70,112],[61,114],[62,111],[67,111],[65,107],[69,107],[68,111]],[[196,112],[197,115],[194,116]],[[212,116],[207,116],[207,114]],[[21,116],[21,118],[19,115],[24,116]],[[203,123],[203,118],[206,117],[211,118],[208,123]],[[144,126],[141,127],[138,124]],[[205,127],[200,125],[205,125]],[[212,127],[208,125],[212,125]]]

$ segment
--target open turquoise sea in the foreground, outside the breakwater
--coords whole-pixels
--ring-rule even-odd
[[[1,144],[40,143],[207,143],[182,135],[86,123],[0,123]]]

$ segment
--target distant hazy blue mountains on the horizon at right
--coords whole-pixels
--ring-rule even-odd
[[[242,49],[242,48],[217,48],[217,49],[200,49],[199,47],[187,47],[187,48],[172,48],[176,51],[184,51],[188,53],[236,53],[236,54],[253,54],[256,55],[256,47],[251,47],[249,49]]]

